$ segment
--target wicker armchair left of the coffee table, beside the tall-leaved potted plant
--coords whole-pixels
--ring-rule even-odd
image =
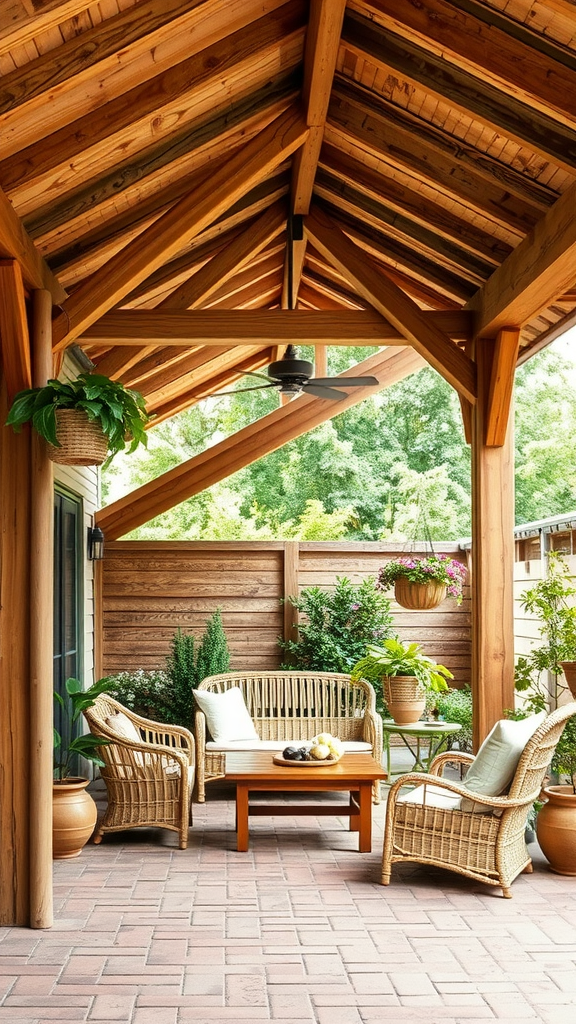
[[[139,741],[123,738],[110,727],[108,720],[118,714],[129,719]],[[105,833],[145,825],[176,831],[179,848],[186,850],[195,777],[192,733],[140,718],[108,693],[100,694],[84,717],[95,736],[112,740],[99,748],[108,807],[94,843],[100,843]]]

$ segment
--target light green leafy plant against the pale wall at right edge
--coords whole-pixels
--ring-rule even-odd
[[[533,712],[556,708],[567,691],[561,662],[576,660],[576,587],[565,559],[556,551],[547,557],[547,573],[521,597],[521,607],[540,622],[541,643],[518,658],[515,685]]]

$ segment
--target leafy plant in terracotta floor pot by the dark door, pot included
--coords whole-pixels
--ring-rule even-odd
[[[96,823],[96,805],[86,793],[89,779],[74,775],[78,756],[98,767],[104,761],[97,748],[108,740],[91,733],[75,736],[75,726],[83,710],[91,708],[99,693],[110,686],[100,679],[83,690],[78,679],[67,679],[66,695],[54,691],[54,699],[63,709],[63,734],[54,729],[54,780],[52,783],[52,855],[55,860],[78,857],[88,842]]]

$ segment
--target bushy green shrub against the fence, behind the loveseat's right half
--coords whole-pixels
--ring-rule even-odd
[[[373,579],[355,586],[338,577],[333,591],[307,587],[291,603],[305,616],[297,640],[281,640],[287,667],[316,672],[351,671],[373,639],[392,630],[390,602],[378,592]]]

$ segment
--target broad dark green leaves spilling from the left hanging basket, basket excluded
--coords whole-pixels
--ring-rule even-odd
[[[17,432],[30,421],[41,437],[59,447],[57,409],[82,410],[89,420],[98,423],[108,438],[110,458],[123,452],[127,441],[129,452],[147,444],[145,426],[149,416],[141,394],[101,374],[84,373],[72,381],[52,379],[44,387],[19,391],[6,423]]]

